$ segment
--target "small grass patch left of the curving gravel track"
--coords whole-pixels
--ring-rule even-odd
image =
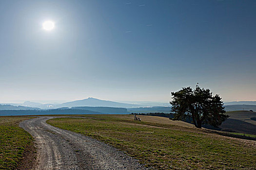
[[[0,170],[17,170],[33,138],[19,127],[28,117],[0,117]]]

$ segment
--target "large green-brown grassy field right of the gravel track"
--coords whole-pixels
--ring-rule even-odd
[[[132,115],[85,117],[47,122],[108,143],[158,170],[256,169],[255,141],[205,133],[168,118],[139,116],[140,122]]]

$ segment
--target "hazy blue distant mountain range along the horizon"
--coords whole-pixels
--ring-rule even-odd
[[[244,104],[246,103],[246,104]],[[99,100],[95,98],[87,98],[83,100],[77,100],[73,102],[64,103],[46,103],[39,102],[24,102],[24,103],[2,103],[0,104],[0,110],[40,110],[40,109],[81,109],[87,110],[87,107],[98,107],[96,110],[91,108],[91,111],[99,113],[111,113],[114,110],[111,108],[126,108],[127,111],[120,111],[119,113],[134,112],[134,113],[148,113],[148,112],[170,112],[170,104],[162,102],[112,102]],[[99,109],[101,107],[101,110]],[[233,110],[256,110],[256,102],[242,101],[242,102],[226,102],[226,111]],[[90,109],[88,109],[90,110]],[[117,113],[117,110],[113,113]]]

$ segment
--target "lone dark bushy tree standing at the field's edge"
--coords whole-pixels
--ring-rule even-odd
[[[170,104],[174,119],[192,118],[197,128],[202,128],[202,124],[218,127],[229,117],[224,114],[226,111],[219,95],[213,96],[209,89],[200,88],[198,85],[194,91],[191,87],[183,87],[172,92],[172,99]]]

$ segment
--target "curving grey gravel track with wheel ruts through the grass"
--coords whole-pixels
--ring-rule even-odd
[[[36,140],[36,170],[146,170],[137,160],[109,145],[45,122],[52,118],[20,123]]]

